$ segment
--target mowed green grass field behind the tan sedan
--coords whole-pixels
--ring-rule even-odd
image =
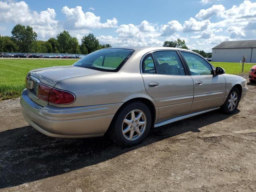
[[[19,97],[25,88],[25,77],[30,70],[72,65],[76,61],[76,59],[0,59],[0,100]],[[228,74],[240,74],[242,70],[240,63],[212,62],[212,64],[224,68]],[[253,65],[255,64],[244,64],[244,72],[248,72]]]

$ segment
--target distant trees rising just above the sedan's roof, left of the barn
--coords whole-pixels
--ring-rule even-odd
[[[189,48],[186,46],[185,40],[181,39],[177,39],[175,41],[165,41],[163,47],[176,47],[189,50]],[[212,58],[212,53],[206,53],[204,50],[193,49],[192,51],[200,54],[205,58]]]

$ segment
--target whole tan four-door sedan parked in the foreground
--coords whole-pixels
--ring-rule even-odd
[[[232,114],[247,90],[244,78],[190,50],[105,48],[72,66],[30,71],[20,102],[27,122],[45,135],[108,134],[132,146],[153,127],[219,108]]]

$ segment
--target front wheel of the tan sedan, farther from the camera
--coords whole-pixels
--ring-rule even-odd
[[[240,101],[240,92],[238,88],[233,87],[228,94],[228,98],[221,106],[221,110],[224,114],[233,114],[239,104]]]

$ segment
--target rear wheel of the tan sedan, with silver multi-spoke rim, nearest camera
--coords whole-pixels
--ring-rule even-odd
[[[133,117],[132,114],[134,114]],[[150,110],[144,103],[129,102],[122,106],[114,116],[108,134],[120,146],[137,145],[148,135],[151,119]]]

